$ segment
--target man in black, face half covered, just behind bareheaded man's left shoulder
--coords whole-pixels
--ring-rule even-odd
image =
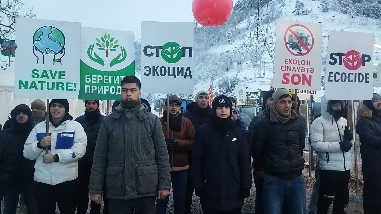
[[[96,140],[98,138],[99,127],[104,119],[104,115],[101,115],[99,111],[99,100],[86,100],[85,101],[85,114],[75,119],[85,129],[87,136],[86,153],[83,158],[78,161],[78,179],[80,183],[79,188],[79,200],[77,205],[77,214],[86,214],[89,204],[89,180],[91,174],[91,167],[93,166],[93,158]],[[103,188],[104,196],[106,196],[106,188]],[[104,211],[108,213],[108,203],[104,200]],[[90,203],[90,214],[100,214],[101,205],[96,204],[94,201]]]

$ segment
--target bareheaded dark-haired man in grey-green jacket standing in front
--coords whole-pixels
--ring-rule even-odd
[[[141,83],[127,76],[122,99],[101,123],[91,169],[90,199],[102,203],[106,177],[109,213],[154,214],[156,197],[170,193],[168,149],[160,120],[141,104]]]

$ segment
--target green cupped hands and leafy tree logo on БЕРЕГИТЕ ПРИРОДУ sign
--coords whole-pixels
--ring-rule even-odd
[[[87,49],[87,55],[92,61],[104,67],[105,58],[98,56],[98,54],[99,53],[104,54],[104,56],[106,56],[106,59],[107,59],[110,56],[110,53],[114,51],[120,51],[120,54],[110,61],[110,67],[125,61],[125,59],[127,58],[126,49],[120,44],[118,44],[119,40],[118,39],[115,40],[115,38],[111,37],[110,34],[104,34],[100,38],[95,38],[95,39],[96,39],[95,44],[91,44],[89,48]],[[96,47],[95,45],[98,47]],[[98,48],[98,50],[101,52],[98,51],[98,54],[96,54],[94,47]]]

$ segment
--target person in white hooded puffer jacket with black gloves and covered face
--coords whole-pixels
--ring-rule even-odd
[[[343,213],[349,202],[353,132],[346,129],[343,100],[323,96],[321,106],[322,116],[311,125],[311,146],[318,154],[320,168],[317,214],[327,214],[332,201],[333,213]]]

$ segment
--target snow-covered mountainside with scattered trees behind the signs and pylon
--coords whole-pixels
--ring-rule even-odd
[[[301,11],[299,15],[296,15],[295,5],[297,1],[303,2],[303,13],[307,14],[303,15]],[[265,2],[265,0],[262,2]],[[328,4],[328,12],[321,10],[322,4]],[[326,6],[323,5],[323,7]],[[195,27],[194,94],[181,94],[182,97],[193,99],[197,91],[207,90],[212,82],[215,96],[219,94],[235,96],[238,87],[245,87],[247,92],[267,91],[270,89],[273,64],[269,55],[266,56],[263,63],[264,75],[263,72],[257,73],[257,78],[255,78],[253,68],[255,59],[252,60],[250,54],[245,58],[240,71],[237,72],[240,60],[243,59],[243,42],[245,35],[247,35],[250,13],[251,0],[239,0],[235,3],[231,19],[223,26],[202,27],[198,25]],[[319,22],[322,24],[322,75],[325,73],[328,33],[331,30],[374,33],[373,63],[381,63],[381,19],[356,16],[353,11],[348,11],[349,14],[340,13],[338,0],[269,0],[267,13],[271,20],[274,42],[276,42],[275,19],[277,18]],[[266,29],[265,22],[263,25],[264,29]]]

